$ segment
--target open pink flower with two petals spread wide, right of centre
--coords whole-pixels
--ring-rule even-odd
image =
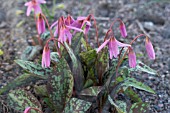
[[[119,54],[119,48],[118,47],[130,47],[129,44],[124,44],[116,40],[115,37],[111,37],[110,39],[106,40],[98,49],[97,53],[108,44],[109,53],[110,53],[110,59],[117,58],[117,55]]]

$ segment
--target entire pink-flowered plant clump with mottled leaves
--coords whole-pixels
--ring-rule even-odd
[[[155,92],[149,86],[133,78],[131,72],[143,71],[157,74],[155,70],[141,61],[136,61],[132,48],[136,39],[145,36],[148,56],[150,59],[155,59],[149,37],[141,34],[130,44],[119,42],[113,35],[114,23],[116,21],[120,23],[122,37],[125,38],[127,33],[125,24],[117,19],[111,24],[105,35],[104,43],[100,45],[98,28],[93,15],[78,17],[77,20],[70,15],[67,18],[60,17],[50,27],[45,15],[39,8],[36,8],[40,6],[40,3],[45,3],[45,1],[32,0],[26,5],[29,7],[27,15],[30,15],[30,9],[34,9],[39,35],[38,43],[41,47],[37,50],[37,46],[33,46],[29,49],[31,54],[24,52],[23,56],[35,56],[34,53],[37,56],[40,49],[44,48],[42,56],[39,55],[42,61],[37,60],[36,63],[27,61],[32,58],[31,56],[15,60],[26,71],[0,89],[0,94],[7,94],[6,104],[18,112],[25,110],[25,113],[45,112],[46,108],[51,113],[147,112],[149,103],[143,102],[133,88],[153,94]],[[36,6],[32,7],[35,4]],[[96,28],[97,48],[88,44],[87,33],[91,27],[91,20],[94,21]],[[48,30],[45,29],[45,23]],[[106,45],[108,47],[105,47]],[[120,52],[118,47],[121,47]],[[33,85],[34,91],[23,89],[30,85],[30,82],[34,84],[38,81],[41,81],[41,85]],[[17,89],[20,87],[22,89]],[[10,91],[11,89],[13,91]],[[118,98],[120,95],[123,95],[122,98]],[[42,108],[44,103],[46,108]]]

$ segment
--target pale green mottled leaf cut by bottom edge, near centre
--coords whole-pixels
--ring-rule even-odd
[[[72,98],[69,103],[67,103],[64,113],[89,113],[89,109],[92,103],[85,100]]]

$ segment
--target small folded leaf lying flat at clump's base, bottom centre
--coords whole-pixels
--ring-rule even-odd
[[[86,88],[80,92],[80,95],[84,96],[97,96],[102,90],[102,86],[92,86]]]

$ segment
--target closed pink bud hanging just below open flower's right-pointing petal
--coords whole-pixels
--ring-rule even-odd
[[[128,49],[129,49],[129,53],[128,53],[129,66],[131,68],[135,68],[136,67],[136,55],[131,47],[129,47]]]

